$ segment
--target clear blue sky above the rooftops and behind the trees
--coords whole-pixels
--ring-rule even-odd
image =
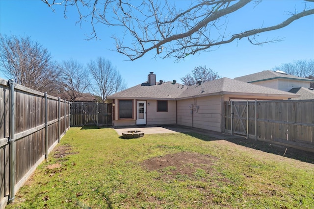
[[[254,9],[253,6],[243,8],[229,16],[230,32],[237,27],[245,30],[280,23],[288,18],[287,11],[301,9],[303,2],[265,0]],[[313,8],[314,3],[308,3],[308,6]],[[128,87],[145,82],[150,71],[156,74],[157,80],[181,82],[180,77],[198,66],[205,65],[221,77],[235,78],[271,70],[293,60],[314,59],[314,15],[260,35],[261,40],[278,37],[283,38],[282,42],[253,46],[244,38],[210,52],[187,56],[178,63],[172,58],[155,59],[150,53],[138,60],[128,61],[126,56],[113,51],[115,42],[110,37],[117,32],[115,28],[98,25],[101,40],[86,41],[91,25],[87,22],[76,24],[78,15],[73,9],[67,13],[67,19],[63,17],[63,7],[56,6],[54,9],[52,12],[40,0],[0,0],[0,33],[30,36],[47,48],[57,62],[73,58],[85,65],[91,59],[105,57],[119,70]],[[7,79],[3,74],[0,77]]]

